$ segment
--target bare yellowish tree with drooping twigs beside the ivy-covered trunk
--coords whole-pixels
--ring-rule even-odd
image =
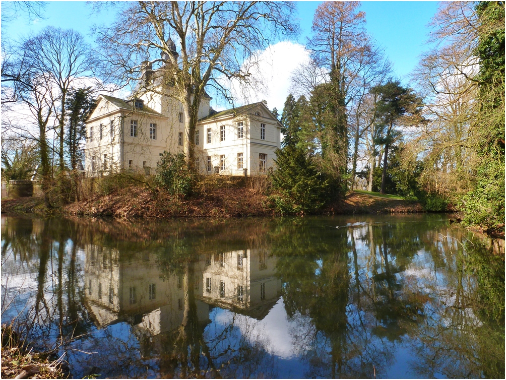
[[[431,22],[429,40],[436,46],[425,53],[413,73],[425,95],[427,124],[409,144],[423,153],[419,182],[430,192],[466,192],[476,165],[472,125],[477,116],[478,46],[480,24],[474,4],[442,3]]]

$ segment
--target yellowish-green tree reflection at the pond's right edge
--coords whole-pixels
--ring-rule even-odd
[[[437,373],[458,378],[504,378],[503,304],[499,318],[479,318],[480,314],[490,315],[488,310],[495,307],[492,299],[504,299],[504,259],[479,243],[469,243],[466,236],[457,240],[445,232],[440,234],[443,249],[437,271],[447,282],[428,285],[439,296],[431,299],[434,312],[420,326],[419,341],[413,345],[418,361],[411,364],[425,377]],[[488,275],[497,269],[502,278]],[[480,273],[478,279],[476,272]],[[494,295],[483,302],[483,291]]]

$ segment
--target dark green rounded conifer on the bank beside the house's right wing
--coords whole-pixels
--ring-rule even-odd
[[[329,199],[330,181],[306,152],[297,147],[286,146],[276,151],[277,169],[270,173],[277,209],[281,213],[312,213]]]

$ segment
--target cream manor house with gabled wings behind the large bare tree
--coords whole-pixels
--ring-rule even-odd
[[[88,176],[119,170],[154,174],[164,150],[183,152],[183,106],[160,95],[170,91],[163,90],[145,91],[127,100],[98,96],[87,120]],[[232,176],[266,172],[280,147],[281,123],[261,102],[216,112],[209,105],[211,99],[206,95],[198,112],[194,141],[198,172]]]

